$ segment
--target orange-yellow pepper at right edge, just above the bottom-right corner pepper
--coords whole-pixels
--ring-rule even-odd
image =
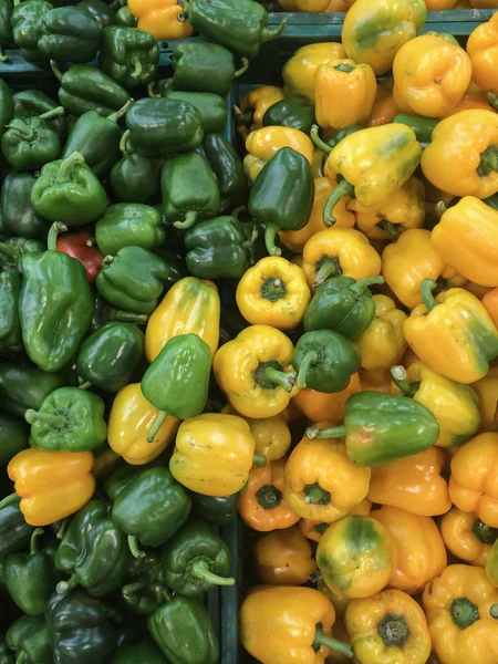
[[[457,507],[446,512],[439,523],[445,547],[459,560],[484,567],[498,530],[486,526],[474,512],[464,512]]]

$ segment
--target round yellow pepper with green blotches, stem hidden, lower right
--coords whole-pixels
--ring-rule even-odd
[[[396,569],[396,547],[378,521],[347,516],[323,533],[317,564],[332,592],[351,599],[367,598],[387,585]]]

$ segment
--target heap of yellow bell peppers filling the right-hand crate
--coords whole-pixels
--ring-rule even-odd
[[[293,252],[287,271],[286,259],[263,259],[280,261],[279,279],[294,294],[258,313],[248,283],[238,303],[248,321],[273,328],[271,359],[284,367],[292,347],[274,329],[299,324],[305,286],[313,292],[324,261],[385,283],[355,340],[361,370],[343,392],[277,388],[277,404],[249,381],[236,384],[228,366],[238,356],[228,361],[227,346],[218,353],[229,412],[247,419],[267,457],[250,469],[239,507],[259,583],[241,604],[240,640],[262,664],[496,664],[498,13],[460,45],[448,34],[417,37],[422,0],[341,2],[342,43],[302,46],[283,68],[283,87],[261,86],[240,102],[253,112],[252,125],[239,128],[249,179],[292,147],[312,164],[315,197],[309,224],[280,232]],[[282,0],[294,11],[318,4]],[[382,32],[390,6],[405,7],[396,17],[403,29]],[[375,27],[375,40],[361,39]],[[292,95],[314,106],[313,141],[263,126],[266,111]],[[434,309],[423,282],[437,284]],[[310,422],[341,424],[352,394],[402,394],[406,385],[438,421],[429,449],[370,469],[349,460],[343,442],[307,438]],[[307,498],[313,486],[326,501]]]

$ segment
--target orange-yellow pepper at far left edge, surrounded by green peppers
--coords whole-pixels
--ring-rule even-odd
[[[89,502],[95,490],[91,452],[46,452],[31,447],[17,454],[7,467],[30,526],[50,526]],[[13,494],[13,497],[15,497]]]

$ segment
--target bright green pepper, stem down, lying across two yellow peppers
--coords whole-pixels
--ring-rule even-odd
[[[159,411],[147,440],[152,443],[168,415],[188,419],[206,407],[211,351],[198,334],[170,339],[142,378],[142,393]]]

